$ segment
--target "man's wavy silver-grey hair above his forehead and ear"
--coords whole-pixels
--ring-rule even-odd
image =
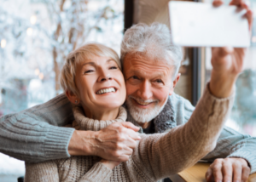
[[[150,26],[140,23],[125,31],[121,44],[121,62],[126,54],[143,53],[155,60],[164,60],[168,65],[174,65],[173,79],[177,76],[183,60],[183,51],[172,44],[169,28],[160,23]]]

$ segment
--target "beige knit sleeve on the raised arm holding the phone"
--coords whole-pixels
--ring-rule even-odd
[[[162,179],[194,165],[216,145],[233,105],[234,94],[218,99],[205,89],[189,122],[166,134],[143,136],[132,156],[148,179]]]

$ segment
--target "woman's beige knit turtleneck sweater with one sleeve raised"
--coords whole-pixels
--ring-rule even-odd
[[[26,163],[26,182],[37,181],[156,181],[188,168],[206,156],[216,145],[220,130],[228,117],[234,95],[226,99],[213,97],[208,88],[189,122],[166,134],[142,134],[127,162],[113,170],[104,166],[98,156],[72,156],[41,163]],[[123,122],[126,111],[119,109],[113,121],[84,117],[81,108],[73,109],[74,127],[97,131],[113,122]]]

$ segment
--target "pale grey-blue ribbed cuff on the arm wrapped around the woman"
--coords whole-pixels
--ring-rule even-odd
[[[49,159],[67,158],[68,144],[73,135],[74,128],[62,128],[51,126],[44,140],[45,157]]]

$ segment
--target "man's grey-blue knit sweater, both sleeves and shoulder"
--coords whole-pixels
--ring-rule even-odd
[[[154,122],[169,128],[188,122],[194,106],[177,94],[172,94],[169,99],[172,110],[166,108]],[[166,121],[161,121],[163,115],[167,115]],[[128,121],[131,119],[128,114]],[[67,158],[70,156],[67,147],[74,128],[59,126],[71,124],[73,120],[72,105],[64,94],[43,105],[0,117],[0,152],[26,162]],[[157,129],[157,132],[160,133],[161,129]],[[255,138],[224,127],[217,146],[204,158],[212,161],[217,157],[242,157],[249,162],[251,173],[255,173],[255,151]]]

